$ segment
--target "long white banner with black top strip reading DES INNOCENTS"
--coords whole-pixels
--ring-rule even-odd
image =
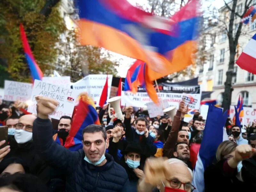
[[[200,108],[201,92],[200,85],[168,85],[159,84],[159,91],[157,92],[158,98],[167,100],[169,106],[176,106],[179,108],[179,103],[182,99],[183,93],[188,93],[194,98],[194,102],[191,105],[193,109]],[[123,89],[124,90],[124,89]],[[138,87],[138,92],[133,94],[129,91],[122,91],[121,105],[133,106],[133,107],[146,107],[146,103],[152,102],[149,98],[145,88]]]

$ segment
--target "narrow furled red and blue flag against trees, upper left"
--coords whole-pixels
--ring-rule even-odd
[[[41,71],[41,69],[38,67],[38,65],[36,64],[36,60],[34,59],[34,56],[30,50],[26,34],[24,31],[23,25],[21,23],[20,23],[20,36],[21,36],[23,50],[25,53],[25,57],[28,61],[28,66],[29,66],[29,69],[31,72],[31,77],[33,79],[33,82],[35,79],[42,80],[42,77],[44,76],[44,74]]]

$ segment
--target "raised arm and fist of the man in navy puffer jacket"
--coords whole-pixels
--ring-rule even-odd
[[[56,108],[57,101],[45,97],[36,97],[37,119],[33,124],[33,142],[37,153],[50,165],[72,171],[79,153],[72,152],[52,140],[52,123],[48,114]]]

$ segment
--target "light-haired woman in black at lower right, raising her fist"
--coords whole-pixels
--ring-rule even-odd
[[[242,168],[242,160],[251,156],[251,148],[229,140],[220,143],[215,163],[204,171],[204,191],[244,191],[245,185],[236,175]]]

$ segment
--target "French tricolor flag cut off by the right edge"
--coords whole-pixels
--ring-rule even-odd
[[[236,64],[240,68],[256,74],[256,34],[245,46],[243,52],[236,61]]]

